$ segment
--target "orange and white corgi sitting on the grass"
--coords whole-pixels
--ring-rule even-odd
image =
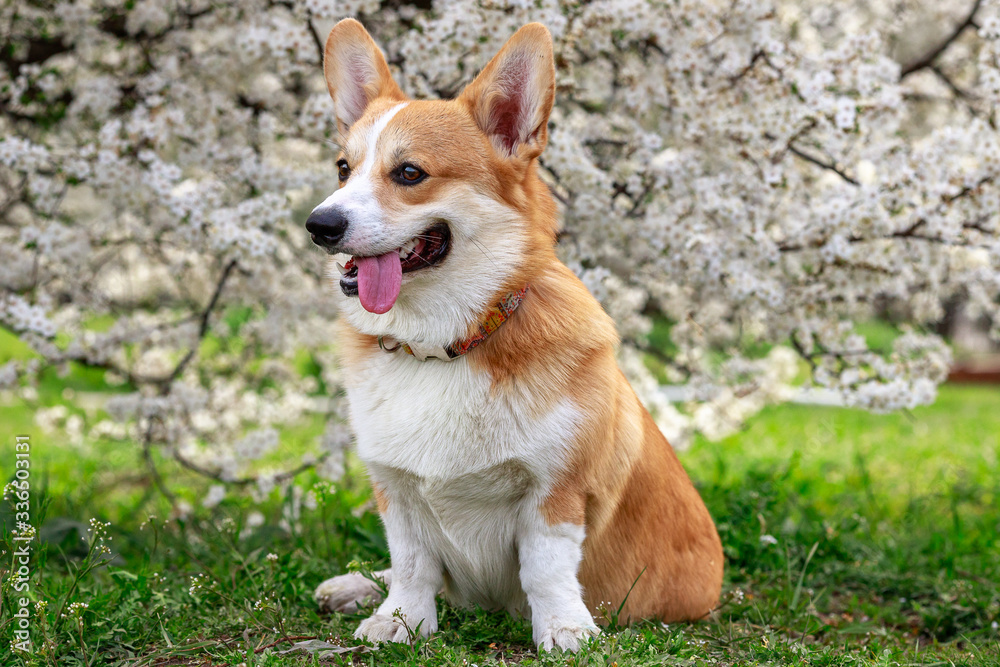
[[[449,101],[407,98],[353,19],[330,32],[323,71],[340,186],[306,229],[330,255],[349,418],[391,560],[356,636],[433,633],[438,594],[524,615],[544,650],[577,650],[602,608],[704,617],[722,585],[715,525],[618,369],[614,324],[556,257],[538,174],[548,30],[518,30]],[[380,597],[360,574],[316,590],[330,610]]]

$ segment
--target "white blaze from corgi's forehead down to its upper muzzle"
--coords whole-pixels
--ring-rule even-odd
[[[383,248],[379,243],[386,242],[385,214],[378,200],[375,199],[372,184],[372,170],[375,167],[376,148],[379,137],[389,121],[409,104],[400,102],[389,109],[365,133],[365,159],[347,181],[347,185],[327,197],[313,211],[322,211],[334,206],[347,216],[349,222],[344,235],[345,249],[355,252],[351,254],[375,255],[392,250],[392,246]]]

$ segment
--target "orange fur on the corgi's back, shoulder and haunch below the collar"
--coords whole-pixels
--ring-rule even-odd
[[[491,373],[497,392],[536,397],[540,413],[568,395],[587,415],[543,512],[552,524],[586,526],[580,582],[591,611],[601,603],[617,609],[627,595],[622,620],[701,618],[722,586],[715,526],[618,370],[610,319],[552,262],[526,280],[531,289],[517,314],[469,360]]]

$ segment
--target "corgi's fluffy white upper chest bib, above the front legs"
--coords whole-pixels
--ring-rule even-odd
[[[376,356],[348,384],[358,454],[368,464],[447,479],[516,461],[540,479],[561,468],[578,421],[564,400],[539,410],[464,359]]]

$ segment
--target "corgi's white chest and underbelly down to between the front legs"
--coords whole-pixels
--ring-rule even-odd
[[[419,526],[453,602],[523,609],[517,535],[565,465],[576,408],[497,395],[462,359],[373,366],[348,389],[373,479]]]

